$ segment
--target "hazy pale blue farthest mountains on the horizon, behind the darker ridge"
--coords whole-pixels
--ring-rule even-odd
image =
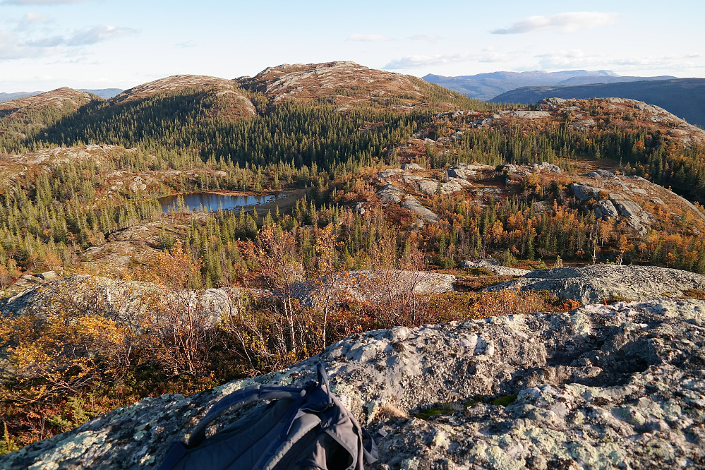
[[[628,77],[613,71],[569,70],[560,72],[492,72],[456,77],[428,74],[423,80],[437,83],[476,100],[490,101],[497,95],[519,87],[538,85],[583,85],[586,83],[617,83],[639,80],[667,80],[672,76]]]

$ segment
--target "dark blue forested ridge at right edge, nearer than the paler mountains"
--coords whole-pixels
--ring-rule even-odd
[[[629,83],[522,87],[494,97],[492,102],[535,103],[543,98],[632,98],[656,104],[697,126],[705,126],[705,78],[642,80]]]

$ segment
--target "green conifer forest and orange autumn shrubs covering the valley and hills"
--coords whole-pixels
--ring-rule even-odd
[[[478,292],[500,279],[460,270],[462,260],[495,255],[523,267],[602,260],[705,273],[702,218],[653,204],[656,222],[639,234],[582,210],[570,191],[579,165],[608,162],[704,201],[704,147],[665,138],[638,115],[615,114],[597,100],[588,105],[595,121],[588,130],[572,126],[570,114],[475,125],[500,105],[439,90],[428,93],[428,106],[409,112],[340,111],[323,98],[275,104],[263,92],[239,89],[256,116],[232,117],[214,112],[223,105],[209,88],[121,105],[94,98],[72,111],[35,109],[12,121],[0,112],[3,161],[58,147],[70,155],[0,171],[0,289],[44,270],[90,273],[85,255],[92,248],[123,229],[155,222],[161,227],[155,250],[113,275],[176,294],[135,293],[144,307],[127,318],[100,302],[78,306],[71,291],[57,294],[52,309],[4,315],[0,452],[141,397],[191,393],[282,368],[354,333],[577,306],[548,292]],[[410,152],[415,138],[433,144]],[[80,157],[76,147],[85,149]],[[549,162],[564,171],[512,183],[502,171],[490,171],[480,182],[507,191],[480,204],[463,191],[418,195],[439,219],[419,227],[409,211],[379,204],[373,184],[378,171],[411,161],[439,183],[457,163],[499,170]],[[144,187],[130,188],[135,177]],[[120,178],[128,183],[116,185]],[[162,215],[157,202],[160,195],[192,191],[286,188],[301,189],[303,197],[288,210],[266,213]],[[363,213],[358,203],[369,203]],[[367,286],[376,295],[334,300],[335,282],[322,279],[356,270],[380,273]],[[421,270],[457,274],[466,291],[420,296],[394,289],[394,279],[382,274]],[[311,302],[295,295],[301,283],[310,287]],[[179,294],[211,287],[231,296],[231,312],[216,325],[205,301]]]

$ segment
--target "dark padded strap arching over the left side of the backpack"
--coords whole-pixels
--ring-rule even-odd
[[[208,425],[237,406],[243,406],[260,400],[298,399],[305,394],[306,390],[301,388],[263,387],[261,385],[248,387],[228,394],[215,405],[211,406],[208,413],[203,417],[200,423],[198,423],[198,426],[193,428],[193,432],[191,433],[191,437],[188,438],[186,447],[198,447],[198,445],[205,440],[205,430]]]

